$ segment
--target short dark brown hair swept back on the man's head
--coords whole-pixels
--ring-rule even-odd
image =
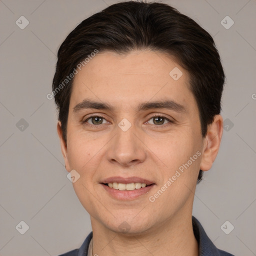
[[[220,113],[225,76],[210,34],[167,4],[124,1],[84,19],[58,49],[52,91],[64,140],[73,78],[64,85],[63,80],[95,49],[119,54],[151,49],[173,57],[189,73],[189,89],[197,102],[203,137],[214,115]],[[201,179],[202,170],[197,183]]]

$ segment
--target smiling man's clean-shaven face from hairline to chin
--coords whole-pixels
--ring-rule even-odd
[[[188,83],[186,70],[153,51],[99,52],[75,75],[66,144],[60,125],[58,133],[93,223],[143,233],[191,216],[198,172],[207,166]]]

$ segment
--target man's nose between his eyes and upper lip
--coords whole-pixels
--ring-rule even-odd
[[[131,124],[125,131],[120,127],[116,125],[113,131],[115,134],[107,144],[106,157],[108,161],[122,166],[143,162],[146,158],[146,147],[142,142],[141,134],[139,134],[139,128]]]

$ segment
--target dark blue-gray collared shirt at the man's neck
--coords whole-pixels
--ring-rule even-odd
[[[199,254],[198,256],[234,256],[226,251],[217,249],[210,238],[205,233],[202,225],[198,221],[197,218],[192,216],[192,225],[194,236],[199,245]],[[89,242],[92,238],[92,231],[85,238],[79,249],[74,249],[59,256],[87,256],[88,255],[88,247]]]

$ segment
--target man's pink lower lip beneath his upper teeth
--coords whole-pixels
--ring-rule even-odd
[[[118,190],[111,188],[107,185],[101,183],[103,188],[110,194],[111,197],[118,200],[129,200],[134,199],[142,194],[146,194],[155,184],[151,184],[149,186],[141,187],[139,189],[134,190]]]

